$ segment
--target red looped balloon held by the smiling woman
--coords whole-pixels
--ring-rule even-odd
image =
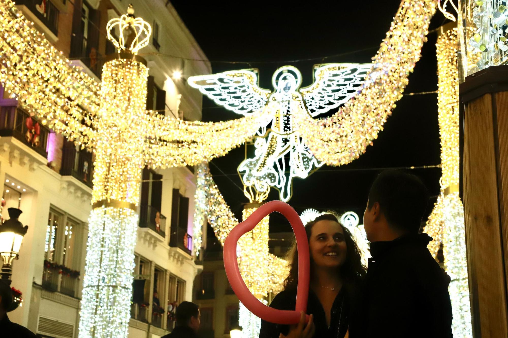
[[[265,216],[274,211],[287,218],[295,232],[299,270],[295,311],[277,310],[264,305],[250,293],[238,268],[236,257],[238,240],[243,234],[255,228]],[[251,313],[259,318],[275,324],[297,324],[300,321],[300,311],[306,312],[310,278],[309,243],[300,216],[289,204],[280,200],[267,202],[255,210],[246,220],[235,226],[224,242],[224,267],[231,288],[238,299]],[[308,321],[308,316],[306,316],[306,321]]]

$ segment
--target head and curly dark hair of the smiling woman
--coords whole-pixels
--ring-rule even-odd
[[[359,277],[365,275],[361,253],[351,232],[332,213],[316,217],[305,225],[309,241],[310,276],[316,276],[317,269],[337,273],[345,284],[355,284]],[[284,281],[284,289],[297,287],[298,251],[296,243],[288,252],[290,272]],[[316,282],[316,281],[314,281]]]

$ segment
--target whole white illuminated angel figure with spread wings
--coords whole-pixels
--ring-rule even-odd
[[[293,122],[296,110],[317,116],[339,107],[361,89],[371,66],[372,63],[316,65],[314,83],[302,89],[300,71],[283,66],[273,74],[273,92],[258,86],[255,70],[193,76],[188,83],[235,113],[249,115],[264,110],[268,114],[268,122],[260,126],[254,143],[255,157],[242,161],[238,170],[244,172],[246,186],[254,186],[260,192],[275,187],[280,199],[287,201],[291,198],[293,178],[306,178],[311,170],[323,165],[300,137]]]

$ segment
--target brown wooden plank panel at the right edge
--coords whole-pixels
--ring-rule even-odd
[[[477,338],[508,336],[492,110],[492,95],[488,93],[467,103],[464,113],[466,246]]]

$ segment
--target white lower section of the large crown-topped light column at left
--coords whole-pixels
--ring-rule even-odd
[[[88,220],[80,338],[126,337],[131,312],[138,215],[101,207]]]

